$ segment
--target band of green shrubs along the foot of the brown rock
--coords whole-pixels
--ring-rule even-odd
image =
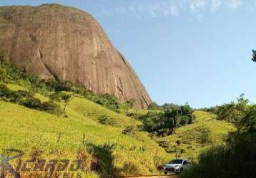
[[[66,80],[42,80],[39,77],[36,77],[35,75],[31,75],[31,73],[26,71],[26,68],[20,70],[13,64],[11,64],[8,59],[3,55],[0,54],[0,81],[3,83],[15,83],[18,85],[26,86],[29,88],[31,93],[41,93],[43,95],[49,96],[49,92],[55,92],[55,93],[61,93],[61,92],[72,92],[75,94],[82,95],[83,97],[92,100],[94,103],[97,103],[99,105],[103,105],[106,108],[109,108],[111,110],[115,110],[119,112],[119,110],[128,110],[129,108],[132,108],[133,101],[127,100],[125,103],[119,103],[117,98],[115,98],[112,95],[104,94],[104,95],[96,95],[91,90],[87,90],[85,88],[80,87],[79,85],[76,85],[70,81]],[[4,90],[4,86],[1,86],[1,90]],[[6,93],[9,93],[8,90],[6,90]],[[20,93],[20,92],[19,92]],[[14,103],[21,103],[22,105],[25,105],[24,102],[20,100],[12,100],[11,98],[15,98],[16,95],[19,95],[19,93],[9,93],[8,96],[3,96],[9,98],[11,102]],[[55,95],[57,96],[57,95]],[[6,98],[6,99],[7,99]],[[59,97],[52,98],[49,103],[44,103],[44,105],[49,106],[50,108],[53,107],[50,110],[56,110],[58,108],[56,106],[56,101],[58,101]],[[64,99],[65,103],[71,98],[71,96],[63,95],[62,99]],[[52,100],[53,99],[53,100]],[[29,103],[32,103],[33,106],[29,108],[44,110],[42,108],[41,104],[39,103],[39,100],[36,100],[33,95],[26,95],[26,100],[30,100]],[[54,102],[55,101],[55,102]],[[59,108],[58,108],[59,109]]]

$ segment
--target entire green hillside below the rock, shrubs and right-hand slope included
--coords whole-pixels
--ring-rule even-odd
[[[136,119],[147,110],[132,109],[129,101],[118,103],[111,95],[97,95],[69,81],[41,80],[1,55],[0,81],[1,149],[24,150],[22,159],[82,159],[84,177],[157,174],[176,152],[195,158],[234,129],[215,115],[197,111],[195,121],[173,135],[149,137],[137,130],[142,122]],[[70,97],[66,110],[67,101],[58,100],[59,95]]]

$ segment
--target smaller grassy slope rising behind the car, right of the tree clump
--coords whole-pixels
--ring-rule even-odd
[[[157,140],[172,157],[195,159],[197,155],[212,144],[223,142],[227,133],[235,127],[225,121],[216,120],[216,115],[196,111],[191,125],[179,127],[176,133]]]

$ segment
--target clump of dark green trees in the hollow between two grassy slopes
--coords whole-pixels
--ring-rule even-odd
[[[192,123],[192,108],[189,105],[174,105],[160,112],[147,112],[139,117],[144,130],[157,136],[167,136],[175,132],[177,127]]]

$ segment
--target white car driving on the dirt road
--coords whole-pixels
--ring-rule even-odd
[[[191,164],[187,159],[172,159],[172,161],[164,165],[164,174],[168,172],[179,173],[188,169],[190,166]]]

